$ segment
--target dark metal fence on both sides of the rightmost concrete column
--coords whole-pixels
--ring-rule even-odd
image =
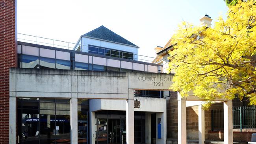
[[[256,107],[255,105],[233,107],[233,128],[234,129],[255,129],[256,128]],[[211,130],[223,131],[223,110],[211,110]]]

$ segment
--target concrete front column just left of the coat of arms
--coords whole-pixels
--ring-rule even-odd
[[[126,100],[126,144],[134,144],[134,99]]]

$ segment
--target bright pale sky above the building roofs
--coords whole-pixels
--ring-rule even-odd
[[[214,25],[228,10],[223,0],[18,0],[17,9],[18,33],[76,43],[103,25],[151,57],[182,21],[200,25],[207,14]]]

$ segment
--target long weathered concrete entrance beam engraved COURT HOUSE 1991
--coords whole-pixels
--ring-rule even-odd
[[[172,78],[162,73],[11,68],[10,97],[127,100],[133,99],[133,89],[169,90]]]

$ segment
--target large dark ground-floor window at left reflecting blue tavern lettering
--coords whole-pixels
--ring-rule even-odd
[[[70,143],[70,100],[18,99],[19,144]]]

